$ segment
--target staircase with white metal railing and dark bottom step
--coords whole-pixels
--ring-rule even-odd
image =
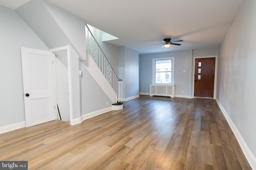
[[[104,55],[102,49],[98,45],[92,32],[86,24],[86,55],[88,56],[88,63],[95,64],[97,67],[86,66],[90,74],[101,86],[102,90],[109,96],[112,101],[114,110],[122,109],[122,80],[118,78],[108,59]],[[83,63],[83,62],[82,62]],[[98,69],[96,69],[98,68]],[[100,74],[99,74],[100,70]],[[102,78],[100,78],[102,77]],[[105,82],[108,82],[106,85]]]

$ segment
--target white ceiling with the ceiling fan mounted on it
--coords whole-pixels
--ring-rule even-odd
[[[15,9],[29,0],[0,0]],[[218,47],[243,0],[48,0],[140,54],[160,53],[164,38],[182,39],[167,51]]]

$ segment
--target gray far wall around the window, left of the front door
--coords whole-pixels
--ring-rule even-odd
[[[174,57],[174,82],[176,95],[191,96],[192,53],[174,51],[169,53],[154,53],[140,55],[140,92],[149,93],[152,84],[152,59]],[[185,70],[185,72],[183,72]],[[184,92],[182,92],[184,90]]]

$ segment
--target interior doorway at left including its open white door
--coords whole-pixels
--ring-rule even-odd
[[[21,59],[26,127],[60,117],[71,121],[69,46],[50,51],[21,47]]]

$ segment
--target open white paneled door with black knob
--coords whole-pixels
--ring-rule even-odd
[[[53,53],[21,47],[26,127],[56,119]]]

